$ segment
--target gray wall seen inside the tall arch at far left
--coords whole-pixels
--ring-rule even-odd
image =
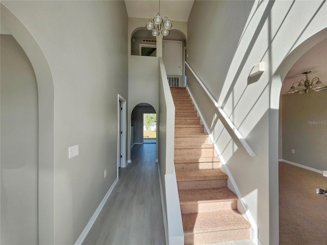
[[[1,35],[1,243],[38,244],[38,93],[30,60]]]

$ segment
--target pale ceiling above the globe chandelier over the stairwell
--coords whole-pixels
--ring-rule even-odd
[[[194,0],[160,0],[160,16],[188,21]],[[158,0],[125,0],[128,17],[153,18],[158,13]]]

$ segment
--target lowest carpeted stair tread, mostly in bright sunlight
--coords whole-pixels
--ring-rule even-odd
[[[184,234],[249,229],[237,210],[182,214]]]

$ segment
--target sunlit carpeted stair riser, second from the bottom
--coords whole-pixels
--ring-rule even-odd
[[[180,210],[181,210],[182,214],[214,212],[214,211],[230,210],[230,209],[237,209],[237,200],[224,201],[224,202],[192,203],[192,204],[181,204],[180,205]]]

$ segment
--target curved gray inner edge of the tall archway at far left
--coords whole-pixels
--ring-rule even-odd
[[[41,48],[20,20],[1,3],[1,24],[28,56],[38,89],[38,232],[40,244],[54,244],[54,84]]]

